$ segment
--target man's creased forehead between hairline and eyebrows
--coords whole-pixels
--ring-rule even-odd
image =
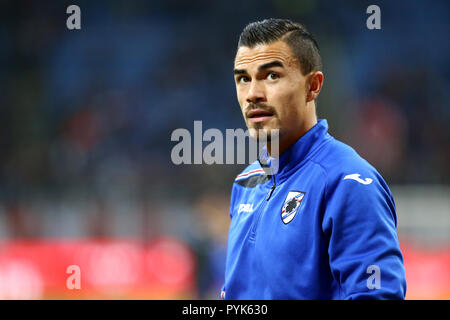
[[[276,41],[269,44],[258,44],[253,48],[239,47],[234,59],[234,67],[247,69],[274,60],[280,61],[285,66],[298,65],[289,45],[284,41]]]

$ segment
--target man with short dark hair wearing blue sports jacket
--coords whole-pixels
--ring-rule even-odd
[[[266,157],[233,184],[222,298],[404,299],[394,199],[380,174],[317,120],[321,68],[300,24],[269,19],[240,36],[238,101],[248,128],[269,139]],[[265,174],[273,129],[278,168]]]

